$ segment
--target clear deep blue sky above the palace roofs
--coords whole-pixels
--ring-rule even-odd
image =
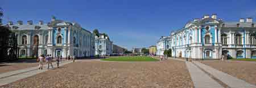
[[[151,1],[151,0],[2,0],[4,22],[11,20],[76,21],[88,30],[107,33],[119,46],[148,47],[161,36],[182,28],[187,21],[205,14],[217,14],[225,21],[241,17],[256,20],[255,0]]]

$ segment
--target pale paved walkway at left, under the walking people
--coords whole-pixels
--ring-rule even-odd
[[[71,62],[72,61],[62,61],[60,63],[60,66],[71,63]],[[55,66],[56,63],[53,63],[53,65]],[[44,65],[44,68],[47,68],[47,65]],[[46,72],[48,70],[51,70],[51,69],[39,70],[38,67],[32,67],[32,68],[20,69],[18,71],[2,73],[0,74],[0,86],[21,80],[26,77],[34,76],[35,74]]]

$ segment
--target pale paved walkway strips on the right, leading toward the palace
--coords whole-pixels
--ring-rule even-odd
[[[174,58],[169,58],[174,59]],[[174,59],[174,60],[180,60],[185,61],[184,59]],[[240,80],[236,77],[230,76],[227,73],[218,71],[217,69],[214,69],[212,67],[209,67],[208,65],[202,64],[199,61],[186,61],[187,68],[189,73],[191,74],[192,81],[195,85],[195,87],[222,87],[218,82],[213,80],[207,73],[212,75],[214,78],[217,78],[217,80],[220,80],[221,82],[225,83],[225,85],[228,85],[228,87],[232,88],[256,88],[255,85],[251,85],[250,83],[247,83],[246,81]],[[205,72],[203,72],[200,68],[203,69]]]

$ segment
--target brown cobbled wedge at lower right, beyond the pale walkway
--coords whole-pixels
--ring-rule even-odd
[[[256,85],[256,63],[245,61],[201,61],[201,63]]]

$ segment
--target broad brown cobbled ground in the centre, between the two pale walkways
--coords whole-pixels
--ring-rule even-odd
[[[193,87],[184,61],[78,61],[1,87]]]

